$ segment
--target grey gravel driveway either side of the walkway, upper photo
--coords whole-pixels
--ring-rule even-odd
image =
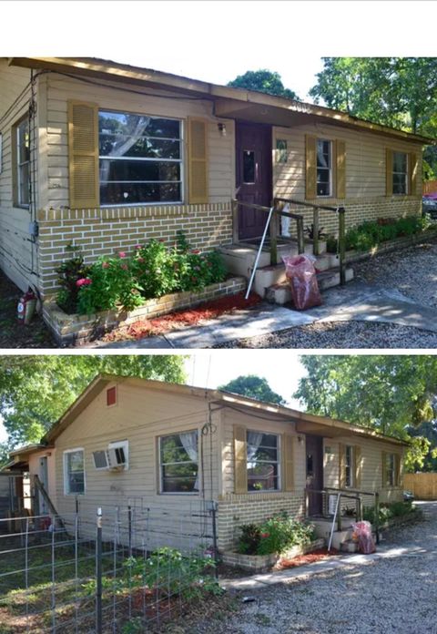
[[[375,256],[353,265],[355,278],[400,291],[437,307],[437,240]],[[437,348],[437,334],[378,322],[315,322],[220,348]]]

